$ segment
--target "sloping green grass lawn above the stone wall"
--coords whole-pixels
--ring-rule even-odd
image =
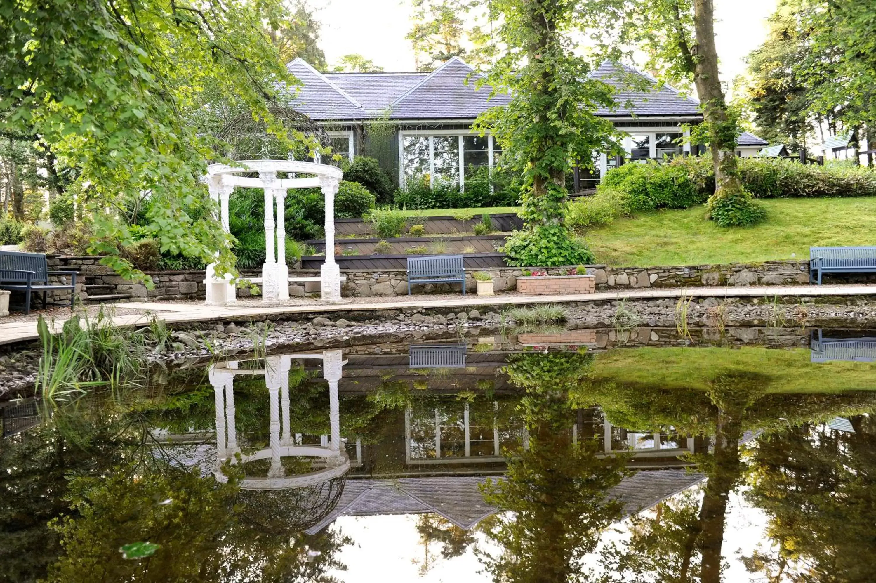
[[[597,262],[611,266],[809,260],[809,245],[876,245],[876,197],[769,199],[767,220],[724,229],[702,206],[656,210],[588,231]]]

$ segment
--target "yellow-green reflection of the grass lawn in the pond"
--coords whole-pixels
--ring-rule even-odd
[[[598,354],[593,378],[664,389],[706,390],[719,374],[757,373],[767,393],[831,393],[876,389],[876,364],[812,363],[805,349],[655,348]]]

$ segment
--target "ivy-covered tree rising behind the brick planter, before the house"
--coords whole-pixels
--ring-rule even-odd
[[[614,103],[613,89],[589,78],[592,64],[576,53],[579,32],[601,18],[596,4],[575,0],[496,0],[490,8],[503,47],[481,82],[511,101],[487,110],[476,126],[503,148],[502,164],[523,174],[526,228],[508,239],[512,265],[577,265],[593,255],[564,224],[571,160],[616,152],[610,121],[594,115]],[[593,12],[588,12],[592,10]]]

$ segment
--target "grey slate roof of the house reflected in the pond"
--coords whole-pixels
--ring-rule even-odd
[[[624,515],[628,516],[695,486],[703,478],[703,474],[685,470],[641,470],[621,480],[608,495],[624,502]],[[335,510],[306,532],[315,534],[338,516],[424,513],[440,514],[469,530],[498,510],[484,501],[479,486],[485,480],[478,476],[347,480]]]

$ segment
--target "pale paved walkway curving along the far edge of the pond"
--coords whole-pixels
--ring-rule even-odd
[[[480,306],[510,306],[533,303],[599,302],[605,300],[640,300],[651,298],[694,297],[773,297],[780,296],[830,296],[830,295],[876,295],[876,286],[766,286],[740,288],[646,288],[623,289],[596,294],[579,295],[459,295],[456,299],[442,297],[429,299],[427,295],[400,295],[398,298],[376,302],[372,298],[350,298],[340,303],[296,303],[293,305],[253,306],[207,306],[203,303],[152,303],[124,302],[111,304],[117,308],[142,309],[142,314],[113,316],[118,326],[143,326],[159,318],[166,323],[210,322],[215,320],[246,320],[248,317],[279,316],[284,314],[309,314],[326,312],[360,312],[402,308],[474,308]],[[60,330],[63,321],[54,322]],[[0,323],[0,345],[39,338],[36,322]]]

